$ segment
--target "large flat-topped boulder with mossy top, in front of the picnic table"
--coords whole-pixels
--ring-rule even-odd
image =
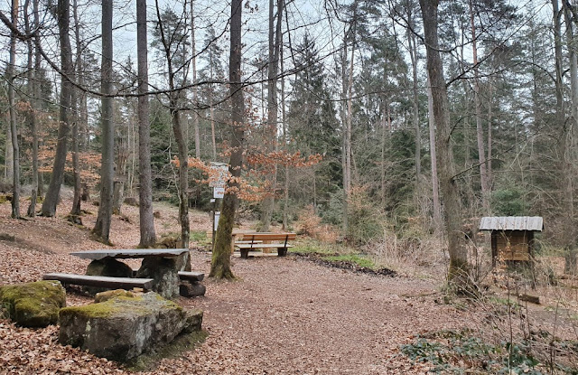
[[[98,357],[128,361],[200,329],[202,313],[185,311],[154,292],[61,309],[59,341]]]

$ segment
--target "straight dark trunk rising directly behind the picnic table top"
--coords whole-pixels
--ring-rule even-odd
[[[138,65],[138,182],[139,248],[156,242],[153,216],[153,177],[151,171],[151,126],[148,112],[148,42],[146,36],[146,0],[136,0],[136,53]]]

